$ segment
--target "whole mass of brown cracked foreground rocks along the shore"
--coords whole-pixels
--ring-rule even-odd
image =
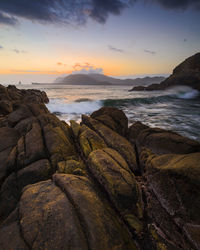
[[[68,125],[0,85],[0,249],[200,249],[200,144],[104,107]]]

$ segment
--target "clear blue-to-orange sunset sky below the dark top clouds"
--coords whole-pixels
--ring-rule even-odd
[[[142,2],[103,24],[88,19],[60,25],[18,17],[17,25],[0,24],[0,81],[5,75],[16,75],[16,80],[31,75],[30,81],[44,75],[51,82],[85,64],[111,76],[170,74],[199,50],[198,23],[199,11],[192,7],[169,10]]]

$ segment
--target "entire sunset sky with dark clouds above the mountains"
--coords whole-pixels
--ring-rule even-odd
[[[169,75],[199,26],[200,0],[1,0],[0,83]]]

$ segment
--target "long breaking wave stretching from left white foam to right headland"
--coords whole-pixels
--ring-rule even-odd
[[[61,114],[90,114],[102,106],[112,106],[117,108],[138,107],[151,104],[172,103],[178,99],[195,99],[199,96],[199,92],[189,87],[181,86],[169,89],[160,96],[145,96],[126,99],[104,99],[91,100],[87,98],[79,98],[72,103],[67,103],[65,98],[52,98],[47,104],[48,109],[56,115]]]

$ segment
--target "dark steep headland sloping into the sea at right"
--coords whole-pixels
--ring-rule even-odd
[[[200,53],[197,53],[181,64],[179,64],[174,70],[172,75],[162,81],[160,84],[151,84],[147,87],[137,86],[131,91],[141,90],[164,90],[169,87],[186,85],[191,88],[200,90]]]

